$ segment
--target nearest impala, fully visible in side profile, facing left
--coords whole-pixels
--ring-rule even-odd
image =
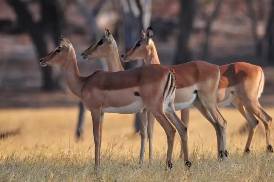
[[[106,42],[108,41],[108,42]],[[94,46],[100,46],[98,42]],[[111,46],[110,37],[102,44]],[[91,46],[92,48],[93,46]],[[86,54],[83,54],[85,57]],[[60,45],[40,60],[42,66],[59,64],[65,70],[69,89],[79,97],[90,110],[92,116],[95,143],[95,164],[100,166],[100,148],[104,113],[132,114],[142,111],[140,117],[152,112],[164,128],[168,140],[166,167],[171,168],[172,150],[176,129],[186,144],[184,155],[188,160],[188,128],[178,118],[174,110],[175,74],[172,69],[161,65],[148,65],[119,72],[96,70],[92,75],[83,77],[77,67],[77,60],[72,44],[67,39],[60,39]],[[147,109],[147,110],[146,110]],[[176,129],[169,122],[176,126]]]

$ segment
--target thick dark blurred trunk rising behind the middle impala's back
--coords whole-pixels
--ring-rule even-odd
[[[196,10],[196,0],[180,0],[180,34],[177,42],[174,64],[182,64],[192,60],[188,48],[188,41],[191,35],[193,20]]]

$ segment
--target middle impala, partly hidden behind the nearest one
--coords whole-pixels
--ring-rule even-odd
[[[112,35],[106,30],[105,36],[101,38],[96,45],[90,46],[86,51],[82,54],[83,58],[86,59],[95,59],[104,57],[108,64],[108,68],[112,71],[121,71],[123,67],[121,66],[121,62],[118,55],[118,49],[115,40],[113,39]],[[156,56],[156,55],[154,55]],[[195,65],[193,65],[195,67]],[[189,69],[189,67],[187,68]],[[201,71],[199,70],[201,69]],[[213,125],[215,126],[216,130],[218,131],[218,137],[220,137],[219,141],[224,140],[224,142],[220,143],[220,150],[219,154],[221,155],[222,151],[226,151],[226,136],[225,136],[225,125],[226,121],[221,117],[221,114],[218,111],[216,100],[217,100],[217,90],[220,80],[220,71],[217,65],[212,65],[206,62],[201,62],[201,65],[197,69],[197,75],[191,75],[191,71],[185,71],[187,79],[183,79],[182,76],[179,75],[181,85],[185,86],[182,92],[176,91],[176,94],[180,93],[182,98],[180,100],[180,104],[177,104],[175,107],[188,107],[197,97],[197,94],[201,97],[201,100],[196,99],[197,107],[201,108],[202,112],[209,112],[210,116],[213,119]],[[208,75],[205,72],[209,72]],[[178,76],[176,74],[176,76]],[[208,76],[208,79],[206,77]],[[203,81],[199,83],[198,81]],[[178,82],[178,79],[176,79]],[[196,84],[191,87],[191,84],[195,82]],[[190,86],[190,89],[189,89]],[[178,88],[178,85],[177,85]],[[194,89],[193,89],[194,88]],[[188,90],[189,89],[189,90]],[[200,91],[202,90],[202,91]],[[204,103],[201,104],[201,103]],[[206,109],[205,109],[206,108]],[[204,110],[203,110],[204,109]],[[153,127],[154,127],[154,117],[153,115],[148,112],[148,124],[143,121],[144,118],[140,118],[141,120],[141,152],[140,152],[140,162],[143,162],[144,158],[144,151],[145,151],[145,139],[148,133],[149,137],[149,157],[150,161],[152,159],[152,137],[153,137]],[[146,119],[146,118],[145,118]],[[146,123],[146,124],[144,124]],[[175,125],[176,126],[176,125]],[[147,131],[148,129],[148,131]],[[179,131],[180,132],[180,131]],[[184,142],[184,141],[183,141]],[[186,142],[187,143],[187,142]],[[224,146],[223,146],[224,145]],[[184,146],[184,145],[183,145]],[[224,148],[224,149],[223,149]],[[224,160],[227,160],[227,153],[225,155],[221,155]],[[186,159],[186,163],[188,159]],[[188,157],[188,156],[187,156]]]

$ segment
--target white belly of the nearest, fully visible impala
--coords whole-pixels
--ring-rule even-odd
[[[145,104],[143,100],[140,99],[127,106],[103,108],[102,111],[105,113],[133,114],[143,110],[144,107]]]

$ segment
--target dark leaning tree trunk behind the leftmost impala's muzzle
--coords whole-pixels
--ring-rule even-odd
[[[46,56],[48,54],[48,50],[47,50],[47,42],[45,40],[44,26],[42,26],[43,24],[33,22],[32,16],[28,12],[28,9],[24,2],[20,0],[9,0],[8,2],[15,10],[20,26],[24,27],[28,31],[30,37],[32,38],[32,41],[37,49],[38,60]],[[53,5],[51,6],[51,8],[42,6],[41,9],[42,9],[42,12],[48,11],[48,12],[51,12],[52,14],[54,14],[55,10],[57,10],[57,8],[54,7]],[[53,17],[52,19],[55,19],[55,18],[56,17]],[[44,90],[60,89],[59,80],[57,78],[53,78],[52,67],[40,67],[40,69],[42,70],[43,89]]]

